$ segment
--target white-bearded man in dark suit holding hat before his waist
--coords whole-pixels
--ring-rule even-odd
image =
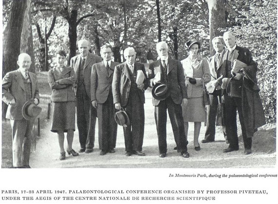
[[[184,81],[183,69],[180,61],[172,60],[168,57],[168,45],[161,41],[157,43],[159,60],[154,61],[149,66],[150,85],[158,82],[166,83],[168,86],[168,97],[159,101],[153,98],[155,106],[155,120],[159,139],[159,157],[166,157],[166,122],[167,109],[172,124],[172,129],[177,144],[177,150],[184,158],[189,157],[187,152],[187,141],[185,138],[181,103],[187,102],[187,93]],[[160,75],[159,77],[155,77]]]

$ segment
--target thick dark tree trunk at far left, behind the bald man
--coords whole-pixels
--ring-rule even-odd
[[[26,0],[13,0],[11,3],[9,20],[3,33],[2,77],[7,72],[16,70],[18,67],[20,38],[26,7]],[[2,120],[5,120],[7,107],[7,104],[2,102]]]

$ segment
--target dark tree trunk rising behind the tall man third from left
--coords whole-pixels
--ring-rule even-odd
[[[69,45],[70,45],[70,53],[68,58],[68,66],[70,65],[70,59],[76,56],[76,43],[77,43],[77,14],[78,11],[76,9],[71,10],[69,15]]]

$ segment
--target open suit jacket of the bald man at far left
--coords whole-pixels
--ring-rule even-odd
[[[38,99],[40,102],[38,80],[36,74],[29,73],[29,79],[31,81],[32,99]],[[9,104],[15,99],[16,104]],[[8,72],[2,80],[2,101],[8,104],[6,118],[11,120],[21,120],[22,107],[26,102],[26,92],[22,79],[20,69]]]

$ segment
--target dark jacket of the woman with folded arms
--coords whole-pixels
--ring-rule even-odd
[[[48,71],[48,83],[52,89],[52,102],[74,102],[75,72],[73,68],[64,66],[60,71],[58,67]]]

